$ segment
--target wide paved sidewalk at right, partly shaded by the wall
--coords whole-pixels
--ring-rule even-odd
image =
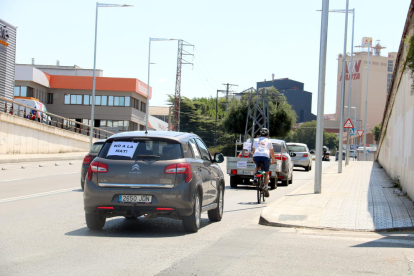
[[[414,230],[414,204],[395,193],[392,179],[377,162],[334,165],[322,173],[322,193],[314,182],[270,204],[259,224],[313,229],[387,231]]]

